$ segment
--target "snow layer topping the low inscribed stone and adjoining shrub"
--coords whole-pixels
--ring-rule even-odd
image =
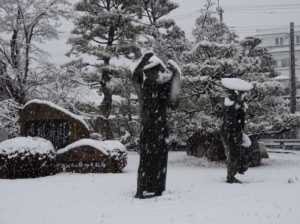
[[[88,145],[94,147],[101,151],[105,155],[113,156],[116,151],[126,152],[125,146],[119,141],[107,140],[107,141],[98,141],[93,139],[80,139],[65,148],[57,150],[57,154],[67,152],[70,149],[75,147]]]

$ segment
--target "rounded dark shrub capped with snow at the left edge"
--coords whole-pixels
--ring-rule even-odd
[[[0,143],[0,178],[36,178],[54,172],[54,147],[46,139],[17,137]]]

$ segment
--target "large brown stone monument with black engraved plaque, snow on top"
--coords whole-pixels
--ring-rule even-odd
[[[49,140],[56,150],[90,138],[89,126],[79,116],[48,101],[32,100],[20,112],[20,135]]]

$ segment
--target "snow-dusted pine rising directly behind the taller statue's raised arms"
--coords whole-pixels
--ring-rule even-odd
[[[190,43],[173,19],[163,19],[177,9],[179,4],[170,0],[135,0],[134,5],[134,14],[144,25],[143,37],[147,41],[143,46],[152,48],[164,62],[172,59],[179,63],[181,53],[190,48]]]

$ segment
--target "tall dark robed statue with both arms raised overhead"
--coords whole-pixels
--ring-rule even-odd
[[[159,83],[159,71],[165,72],[167,69],[173,74]],[[166,67],[153,51],[146,51],[133,72],[132,81],[138,94],[141,116],[141,153],[135,198],[142,199],[145,191],[160,196],[166,190],[169,143],[167,108],[175,110],[178,107],[180,70],[176,62],[169,60]]]

